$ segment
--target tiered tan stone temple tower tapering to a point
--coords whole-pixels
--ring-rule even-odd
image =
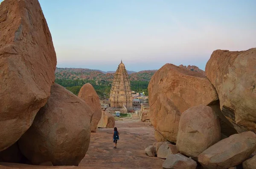
[[[116,69],[112,83],[110,103],[112,108],[122,108],[122,105],[125,105],[127,109],[132,109],[130,80],[122,60]]]

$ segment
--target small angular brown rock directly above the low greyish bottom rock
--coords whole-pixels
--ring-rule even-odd
[[[162,144],[157,150],[158,158],[167,158],[168,155],[177,154],[179,151],[177,147],[172,144]]]

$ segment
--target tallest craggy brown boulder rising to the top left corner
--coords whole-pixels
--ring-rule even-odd
[[[14,144],[45,105],[56,54],[38,0],[0,5],[0,151]]]

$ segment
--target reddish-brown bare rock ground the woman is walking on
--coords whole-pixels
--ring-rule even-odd
[[[79,166],[117,169],[161,169],[163,160],[145,155],[152,145],[154,128],[139,120],[116,121],[120,133],[117,149],[113,149],[113,129],[97,129],[91,133],[89,149]]]

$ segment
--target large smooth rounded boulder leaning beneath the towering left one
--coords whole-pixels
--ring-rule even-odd
[[[91,116],[87,103],[54,83],[47,104],[20,137],[20,151],[35,165],[78,166],[90,143]]]

